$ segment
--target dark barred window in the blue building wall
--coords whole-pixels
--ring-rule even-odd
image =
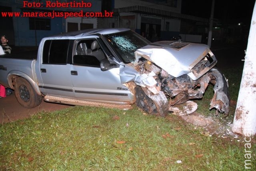
[[[51,20],[48,18],[29,18],[29,30],[51,30]]]

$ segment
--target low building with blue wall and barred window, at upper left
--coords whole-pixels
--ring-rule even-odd
[[[101,0],[1,0],[0,35],[6,35],[13,46],[38,46],[46,36],[86,28],[96,28],[97,18],[65,17],[69,12],[101,11]],[[71,4],[72,2],[73,4]],[[75,4],[85,2],[91,5]],[[69,3],[69,4],[68,4]],[[65,5],[69,7],[65,7]],[[76,5],[72,8],[71,6]],[[68,14],[68,13],[67,13]]]

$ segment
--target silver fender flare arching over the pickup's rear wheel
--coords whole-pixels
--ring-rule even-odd
[[[10,88],[14,89],[14,85],[12,84],[12,81],[18,77],[22,77],[26,79],[31,84],[31,86],[34,88],[34,90],[38,95],[42,94],[38,87],[38,84],[30,76],[28,76],[24,72],[17,71],[17,70],[12,70],[7,75],[7,84],[9,85]]]

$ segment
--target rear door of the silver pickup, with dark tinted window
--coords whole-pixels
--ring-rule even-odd
[[[44,43],[43,58],[40,63],[42,83],[39,87],[45,95],[74,98],[70,64],[68,64],[72,45],[72,40],[46,40]]]

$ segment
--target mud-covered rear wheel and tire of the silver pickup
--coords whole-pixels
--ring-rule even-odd
[[[24,78],[17,78],[14,86],[16,99],[26,108],[33,108],[42,102],[42,95],[38,95],[30,83]]]

